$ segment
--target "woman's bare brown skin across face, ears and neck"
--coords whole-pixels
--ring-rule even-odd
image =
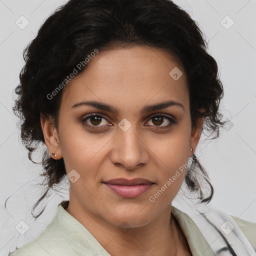
[[[174,80],[169,72],[178,67],[183,74]],[[95,100],[113,106],[117,112],[82,105]],[[165,100],[180,102],[164,109],[142,113],[144,105]],[[101,113],[97,123],[88,118]],[[174,117],[177,123],[162,117]],[[118,123],[126,118],[131,124],[123,131]],[[96,124],[95,124],[96,123]],[[112,124],[112,125],[110,125]],[[58,129],[51,120],[41,118],[46,146],[51,157],[63,157],[66,173],[75,169],[80,177],[70,182],[67,212],[82,223],[112,256],[191,255],[187,240],[171,214],[171,201],[185,177],[185,171],[155,199],[149,196],[187,163],[195,151],[203,125],[200,119],[191,129],[189,92],[183,67],[163,49],[134,46],[99,52],[87,69],[63,89]],[[166,127],[162,130],[157,127]],[[190,151],[190,148],[193,151]],[[56,157],[51,152],[54,151]],[[123,198],[102,181],[112,178],[143,177],[155,184],[135,198]],[[126,227],[126,232],[119,226]]]

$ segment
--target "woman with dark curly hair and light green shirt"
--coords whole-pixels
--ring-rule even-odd
[[[29,159],[44,143],[48,188],[67,176],[70,199],[11,256],[255,255],[254,223],[172,206],[182,183],[213,195],[196,146],[224,124],[223,87],[202,36],[169,0],[69,0],[47,18],[13,109]]]

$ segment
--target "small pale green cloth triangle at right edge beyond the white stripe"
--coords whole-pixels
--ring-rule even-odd
[[[241,218],[237,218],[235,216],[230,215],[235,222],[238,224],[246,238],[248,239],[249,243],[256,251],[256,223],[243,220]]]

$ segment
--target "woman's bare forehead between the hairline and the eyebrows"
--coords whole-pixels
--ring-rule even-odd
[[[182,75],[173,79],[172,70]],[[117,109],[170,99],[189,103],[183,67],[166,50],[148,46],[99,51],[62,93],[61,104],[68,108],[82,100],[103,101]]]

